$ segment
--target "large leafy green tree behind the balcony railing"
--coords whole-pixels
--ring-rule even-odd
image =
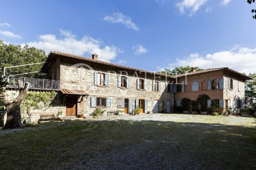
[[[3,40],[0,39],[0,76],[3,75],[4,67],[45,62],[46,58],[47,55],[44,50],[39,50],[35,47],[29,47],[28,45],[7,45]],[[39,64],[9,68],[7,69],[7,75],[18,75],[27,72],[39,71],[41,66],[42,65]],[[42,78],[44,77],[44,74],[34,73],[22,76]]]

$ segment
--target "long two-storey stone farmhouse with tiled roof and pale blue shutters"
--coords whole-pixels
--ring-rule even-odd
[[[8,77],[7,89],[15,93],[17,80],[29,82],[29,90],[57,91],[51,106],[45,110],[33,110],[33,119],[40,114],[56,114],[63,117],[91,114],[96,108],[109,111],[141,113],[171,113],[181,106],[181,100],[197,100],[206,94],[207,107],[216,106],[221,111],[243,107],[245,81],[248,76],[228,67],[196,71],[191,68],[183,75],[166,76],[142,69],[105,62],[93,54],[92,58],[52,51],[41,69],[48,80]],[[25,114],[25,113],[24,113]]]

